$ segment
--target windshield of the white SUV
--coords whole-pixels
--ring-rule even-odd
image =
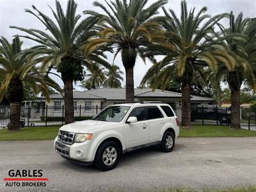
[[[126,115],[130,107],[127,106],[109,106],[101,111],[93,120],[104,122],[120,122]]]

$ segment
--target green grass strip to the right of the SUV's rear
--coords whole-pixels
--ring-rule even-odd
[[[250,137],[256,136],[256,131],[246,129],[234,130],[228,126],[221,125],[193,125],[192,129],[180,128],[180,138],[197,137]]]

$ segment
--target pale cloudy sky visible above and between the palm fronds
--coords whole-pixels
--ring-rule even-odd
[[[98,0],[102,1],[103,0]],[[109,0],[107,0],[109,1]],[[148,3],[154,3],[155,0],[149,0]],[[63,10],[65,10],[67,5],[67,0],[60,0],[61,6]],[[82,15],[82,18],[86,16],[83,15],[83,10],[94,10],[99,11],[98,8],[95,8],[90,0],[76,0],[77,13]],[[196,11],[200,10],[203,6],[207,6],[207,13],[211,15],[216,15],[219,13],[225,13],[233,11],[235,15],[240,12],[244,13],[244,17],[256,17],[256,0],[188,0],[188,8],[196,7]],[[24,9],[31,9],[31,5],[35,5],[38,10],[45,13],[49,17],[52,18],[51,9],[55,8],[54,0],[0,0],[0,36],[4,36],[9,41],[12,40],[13,35],[23,34],[17,29],[10,29],[9,26],[19,26],[22,28],[35,28],[35,29],[44,29],[42,23],[37,20],[33,15],[29,13],[25,13]],[[49,6],[47,6],[49,5]],[[169,0],[168,4],[165,5],[166,8],[172,8],[177,15],[180,15],[180,0]],[[160,15],[163,12],[159,13]],[[228,24],[228,20],[225,19],[222,21],[223,24]],[[36,45],[35,42],[27,39],[22,39],[24,41],[24,47],[28,48],[33,45]],[[113,54],[107,53],[109,63],[113,63]],[[125,72],[124,67],[122,65],[121,57],[118,57],[115,60],[115,64],[118,65],[122,71]],[[136,65],[134,67],[134,86],[139,86],[140,81],[147,72],[148,68],[152,66],[150,61],[143,63],[140,58],[137,58]],[[56,82],[58,82],[61,86],[63,83],[59,77],[51,76]],[[122,86],[125,86],[125,77]],[[80,83],[74,84],[74,88],[76,90],[83,90],[80,87]]]

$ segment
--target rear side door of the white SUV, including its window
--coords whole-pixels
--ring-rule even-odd
[[[149,124],[149,143],[159,140],[159,135],[164,126],[164,116],[157,106],[147,107],[147,119]]]

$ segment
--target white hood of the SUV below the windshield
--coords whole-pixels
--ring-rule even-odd
[[[81,122],[75,122],[72,124],[64,125],[60,128],[61,131],[75,132],[75,133],[87,133],[94,129],[102,127],[108,127],[109,125],[116,124],[116,122],[102,122],[95,120],[84,120]]]

